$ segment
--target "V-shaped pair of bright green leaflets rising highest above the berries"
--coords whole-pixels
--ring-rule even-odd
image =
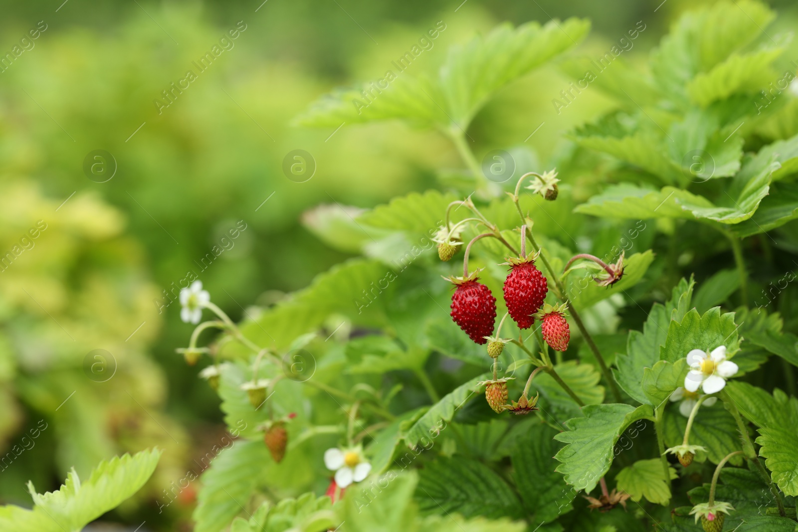
[[[377,83],[322,97],[295,121],[335,128],[342,122],[398,118],[459,135],[496,91],[575,46],[589,29],[590,23],[578,18],[552,20],[545,26],[528,22],[516,29],[502,25],[453,47],[437,77],[389,71]]]

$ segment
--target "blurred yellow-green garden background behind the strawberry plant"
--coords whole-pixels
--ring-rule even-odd
[[[2,502],[28,504],[28,479],[50,490],[69,467],[85,474],[100,459],[157,444],[166,453],[148,491],[111,518],[155,515],[152,530],[188,530],[191,493],[163,514],[153,499],[223,424],[199,368],[175,353],[192,325],[178,304],[164,307],[163,291],[193,270],[239,319],[346,258],[306,230],[303,212],[440,188],[438,169],[462,166],[442,137],[402,124],[293,127],[310,102],[382,77],[438,21],[446,30],[414,73],[499,22],[570,16],[593,22],[578,51],[597,57],[644,22],[625,53],[634,63],[697,3],[5,2],[0,57],[13,61],[0,73],[0,252],[14,259],[0,267],[0,451],[14,456],[0,465]],[[794,2],[770,3],[776,26],[795,22]],[[37,28],[38,38],[21,42]],[[198,72],[193,61],[236,28],[229,49],[159,112],[162,91]],[[523,145],[545,161],[567,150],[563,133],[612,105],[587,90],[558,114],[551,100],[570,81],[555,65],[505,89],[469,130],[476,156]],[[116,161],[105,183],[84,170],[98,149]],[[294,149],[317,165],[305,183],[282,172]],[[40,220],[45,230],[22,240]],[[246,229],[223,242],[236,225]],[[203,271],[214,246],[229,249]],[[99,373],[94,349],[111,354]],[[41,422],[47,428],[32,438]]]

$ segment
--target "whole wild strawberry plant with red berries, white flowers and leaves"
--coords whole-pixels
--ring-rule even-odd
[[[773,18],[685,14],[593,73],[611,112],[547,164],[507,147],[503,179],[469,126],[547,61],[585,77],[587,21],[500,26],[299,116],[436,130],[465,168],[319,207],[308,229],[358,256],[241,323],[181,294],[180,353],[239,435],[196,530],[796,530],[798,101],[761,104],[784,79]]]

